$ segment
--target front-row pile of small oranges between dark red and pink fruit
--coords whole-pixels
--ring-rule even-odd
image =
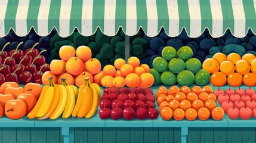
[[[210,116],[215,120],[224,117],[222,108],[217,107],[216,97],[210,86],[171,86],[169,90],[161,86],[156,92],[159,111],[164,120],[207,120]]]

